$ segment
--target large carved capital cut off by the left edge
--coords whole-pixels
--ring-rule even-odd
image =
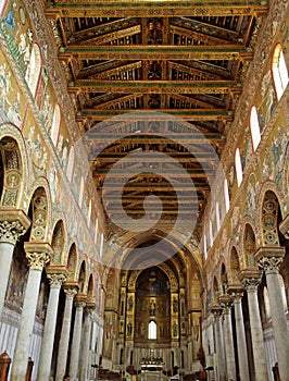
[[[0,211],[0,243],[15,245],[20,236],[26,233],[30,223],[24,211],[2,209]]]

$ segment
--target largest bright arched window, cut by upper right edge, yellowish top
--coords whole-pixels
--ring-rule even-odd
[[[277,44],[272,62],[272,73],[273,81],[277,94],[277,99],[279,100],[288,85],[288,70],[285,62],[285,57],[282,52],[282,47],[280,44]]]

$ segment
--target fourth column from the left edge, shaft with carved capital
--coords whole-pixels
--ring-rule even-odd
[[[56,377],[55,381],[63,381],[66,370],[67,362],[67,352],[70,343],[70,333],[71,333],[71,322],[72,322],[72,307],[74,296],[77,294],[78,283],[64,285],[65,297],[65,307],[62,321],[62,330],[59,342],[59,353],[58,353],[58,365],[56,365]]]

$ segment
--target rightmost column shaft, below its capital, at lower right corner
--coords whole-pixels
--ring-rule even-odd
[[[281,380],[289,380],[289,332],[285,317],[278,270],[265,271],[272,310],[272,325]]]

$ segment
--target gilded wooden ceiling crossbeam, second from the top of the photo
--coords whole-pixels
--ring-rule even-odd
[[[59,50],[60,60],[251,60],[253,52],[230,45],[70,45]]]

